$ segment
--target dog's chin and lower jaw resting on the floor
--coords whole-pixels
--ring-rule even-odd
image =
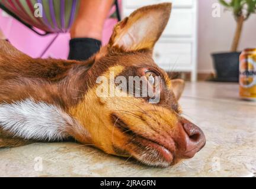
[[[171,150],[149,139],[137,136],[132,144],[135,146],[130,154],[142,164],[166,168],[179,161]]]

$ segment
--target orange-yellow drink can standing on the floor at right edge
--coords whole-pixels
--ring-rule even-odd
[[[240,55],[240,96],[256,100],[256,48],[248,48]]]

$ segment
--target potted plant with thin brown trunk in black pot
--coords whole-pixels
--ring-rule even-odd
[[[236,31],[229,53],[212,54],[214,67],[219,82],[238,82],[239,80],[239,53],[238,45],[241,38],[244,22],[256,12],[256,0],[219,0],[220,4],[233,12],[236,21]]]

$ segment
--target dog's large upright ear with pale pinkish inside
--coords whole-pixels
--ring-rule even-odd
[[[171,3],[144,6],[114,27],[110,47],[125,51],[152,50],[171,14]]]

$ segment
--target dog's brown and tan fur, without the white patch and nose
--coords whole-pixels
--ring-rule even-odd
[[[32,97],[36,102],[57,105],[88,131],[87,137],[79,126],[69,128],[70,135],[82,144],[93,144],[108,154],[133,156],[148,165],[174,164],[185,151],[177,101],[184,82],[171,81],[152,59],[153,45],[167,24],[170,10],[171,4],[138,9],[116,25],[110,43],[88,61],[34,59],[0,41],[0,103]],[[147,28],[139,28],[140,22]],[[133,33],[145,29],[151,32],[139,37]],[[108,77],[110,71],[116,76],[143,76],[143,69],[154,70],[162,78],[157,105],[143,98],[96,95],[98,76]],[[0,147],[27,142],[31,141],[12,138],[12,133],[1,131],[0,125]],[[168,161],[152,154],[156,144],[171,151]]]

